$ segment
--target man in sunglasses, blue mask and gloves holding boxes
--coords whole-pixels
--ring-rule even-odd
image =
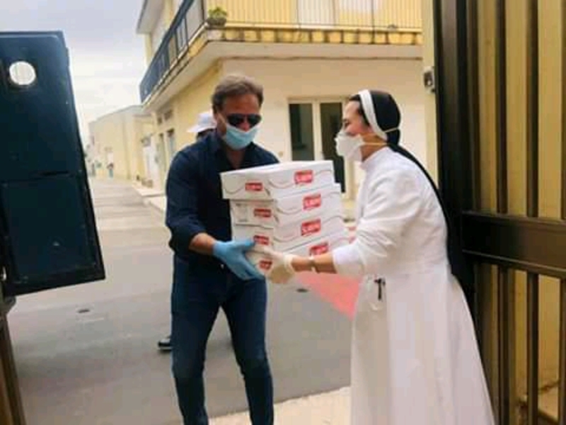
[[[273,424],[273,384],[265,348],[267,286],[247,261],[253,241],[231,241],[229,203],[220,173],[275,164],[255,145],[262,86],[224,78],[212,96],[216,130],[173,159],[166,184],[166,224],[175,252],[171,293],[173,377],[185,425],[208,424],[204,353],[220,307],[246,385],[253,425]]]

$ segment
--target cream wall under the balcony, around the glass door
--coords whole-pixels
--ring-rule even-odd
[[[291,159],[290,99],[344,99],[360,89],[377,89],[388,91],[398,102],[401,144],[427,166],[421,60],[226,60],[223,73],[231,72],[246,74],[264,86],[258,141],[283,161]],[[359,168],[356,176],[359,184]]]

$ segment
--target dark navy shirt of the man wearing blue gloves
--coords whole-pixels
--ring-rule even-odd
[[[215,132],[180,150],[171,162],[167,176],[166,225],[171,231],[169,246],[190,263],[195,273],[218,268],[212,256],[189,249],[192,238],[207,233],[214,239],[231,239],[229,201],[222,199],[220,173],[233,170]],[[250,143],[241,168],[277,163],[271,152]]]

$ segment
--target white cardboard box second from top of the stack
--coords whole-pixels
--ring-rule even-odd
[[[340,184],[330,184],[275,200],[231,200],[233,225],[282,226],[323,212],[343,215]]]

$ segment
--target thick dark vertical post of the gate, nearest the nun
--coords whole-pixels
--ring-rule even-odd
[[[466,0],[432,0],[434,16],[434,71],[437,79],[437,171],[438,186],[446,210],[453,217],[454,231],[463,246],[461,226],[463,212],[477,207],[475,191],[476,149],[473,140],[477,128],[470,123],[470,111],[475,111],[470,92],[469,73],[473,64],[468,57],[468,8]],[[463,53],[462,53],[463,52]],[[470,64],[471,62],[471,64]],[[473,118],[477,115],[473,115]],[[471,261],[466,265],[468,279],[473,281]],[[473,290],[466,299],[473,314],[477,315],[478,300]]]

